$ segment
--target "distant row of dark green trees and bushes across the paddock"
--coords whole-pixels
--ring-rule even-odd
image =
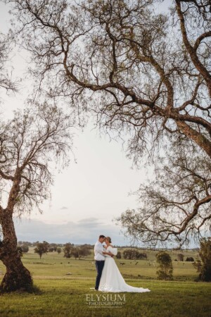
[[[27,253],[29,251],[29,247],[35,247],[34,252],[39,254],[41,259],[42,254],[46,254],[47,252],[58,252],[58,254],[63,251],[65,258],[75,258],[81,259],[84,256],[88,256],[91,254],[91,249],[94,248],[94,245],[91,244],[82,244],[75,245],[73,243],[66,244],[56,244],[56,243],[48,243],[44,242],[24,242],[18,241],[18,252],[20,256],[23,256],[23,253]],[[123,247],[122,247],[123,248]],[[137,259],[147,259],[146,252],[139,252],[138,248],[134,249],[125,249],[123,252],[117,252],[117,259],[129,260],[137,260]],[[199,257],[196,261],[194,261],[192,256],[187,256],[185,261],[193,262],[193,266],[197,269],[199,275],[197,280],[204,280],[209,282],[211,280],[211,238],[200,240],[200,249],[194,249],[195,251],[199,251]],[[158,254],[156,254],[156,259],[158,263],[158,279],[160,280],[172,280],[173,278],[173,266],[172,259],[170,254],[167,251],[160,250]],[[174,261],[184,261],[184,254],[177,254],[177,259]]]

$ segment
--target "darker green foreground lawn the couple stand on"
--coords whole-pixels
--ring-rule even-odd
[[[127,280],[130,285],[148,287],[151,292],[121,293],[121,300],[113,293],[105,300],[99,295],[106,293],[90,290],[94,279],[34,282],[41,294],[2,295],[0,316],[211,316],[209,283]],[[112,306],[111,302],[120,306]]]

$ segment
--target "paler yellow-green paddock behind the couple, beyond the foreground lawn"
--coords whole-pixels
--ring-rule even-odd
[[[191,254],[188,254],[190,252]],[[186,256],[196,258],[196,253],[188,251]],[[115,259],[117,266],[120,268],[125,278],[142,278],[155,279],[157,271],[157,263],[155,254],[157,251],[147,251],[148,260],[124,260]],[[177,252],[172,251],[172,259],[177,259]],[[124,263],[123,266],[120,263]],[[65,274],[71,273],[74,278],[94,278],[96,276],[96,268],[94,264],[94,255],[82,260],[65,259],[62,254],[51,252],[44,254],[41,259],[34,254],[34,249],[30,248],[29,253],[23,256],[23,263],[30,270],[35,279],[44,278],[64,278]],[[196,269],[193,268],[191,262],[173,261],[174,280],[194,280],[197,276]],[[0,261],[0,278],[1,273],[5,272],[4,265]]]

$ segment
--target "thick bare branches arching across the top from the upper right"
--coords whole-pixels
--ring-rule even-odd
[[[209,1],[172,1],[172,15],[151,0],[8,2],[51,96],[87,106],[94,92],[99,122],[132,130],[136,154],[167,132],[211,156]]]

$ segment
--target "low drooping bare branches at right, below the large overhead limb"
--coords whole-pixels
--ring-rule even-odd
[[[150,244],[200,239],[211,228],[211,163],[191,144],[174,147],[155,167],[155,178],[136,192],[140,208],[117,218],[125,235]]]

